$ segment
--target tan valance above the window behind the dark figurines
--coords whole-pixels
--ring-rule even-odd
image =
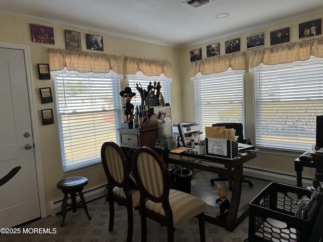
[[[160,76],[164,74],[168,78],[173,78],[172,64],[168,62],[151,61],[135,57],[125,57],[126,74],[136,74],[142,72],[148,77]]]

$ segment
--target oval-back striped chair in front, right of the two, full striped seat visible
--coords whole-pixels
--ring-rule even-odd
[[[147,240],[147,218],[167,227],[168,241],[174,241],[175,227],[198,218],[200,241],[205,241],[205,202],[170,189],[170,173],[164,160],[153,149],[140,147],[133,154],[133,171],[140,191],[141,241]]]

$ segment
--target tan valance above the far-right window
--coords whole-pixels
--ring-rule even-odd
[[[253,49],[250,52],[249,69],[257,67],[260,63],[277,65],[295,61],[306,61],[311,55],[323,57],[323,37],[268,48]]]

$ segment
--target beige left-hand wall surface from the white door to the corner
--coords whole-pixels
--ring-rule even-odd
[[[30,23],[53,27],[55,45],[35,43],[31,41]],[[83,51],[91,51],[86,49],[85,34],[99,34],[103,36],[104,53],[117,54],[121,56],[133,56],[139,58],[153,59],[155,61],[167,61],[173,64],[173,82],[171,83],[171,98],[174,120],[177,120],[180,115],[181,105],[177,100],[179,85],[180,85],[180,50],[177,48],[126,39],[102,33],[94,33],[82,29],[72,29],[61,25],[49,24],[46,22],[32,21],[24,18],[18,18],[0,14],[0,41],[9,43],[26,44],[30,46],[31,66],[33,72],[33,82],[36,93],[37,110],[52,108],[56,110],[55,103],[41,104],[38,88],[51,87],[53,90],[52,80],[38,79],[38,63],[48,63],[48,49],[58,48],[66,49],[65,29],[81,32],[81,46]],[[93,50],[94,51],[94,50]],[[96,51],[97,52],[97,51]],[[121,83],[122,90],[127,86],[127,80],[124,79]],[[39,112],[40,113],[40,112]],[[66,177],[62,175],[61,155],[59,146],[58,124],[43,126],[41,116],[38,116],[38,128],[40,133],[41,144],[41,160],[44,177],[45,200],[47,213],[49,214],[49,202],[62,199],[63,194],[56,188],[59,180]],[[98,187],[106,184],[106,177],[101,166],[77,172],[71,175],[86,176],[89,179],[85,190]]]

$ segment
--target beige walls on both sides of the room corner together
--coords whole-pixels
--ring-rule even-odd
[[[139,58],[154,59],[156,61],[168,61],[173,64],[173,82],[171,84],[172,98],[172,114],[174,122],[185,121],[194,122],[194,100],[193,100],[193,83],[190,81],[189,69],[190,58],[189,51],[196,48],[202,48],[202,57],[206,56],[206,45],[212,43],[220,43],[220,53],[225,54],[224,43],[226,40],[240,38],[241,51],[246,52],[246,60],[248,65],[249,50],[246,49],[246,36],[264,32],[264,46],[270,46],[270,31],[280,28],[290,28],[290,42],[299,41],[298,24],[317,18],[322,18],[323,14],[309,16],[307,18],[295,19],[285,23],[273,25],[266,28],[255,29],[242,34],[230,36],[228,38],[216,39],[207,43],[194,45],[191,47],[177,49],[142,41],[136,41],[127,38],[121,38],[103,33],[90,32],[82,29],[73,29],[61,25],[49,24],[46,22],[33,21],[25,18],[13,17],[0,14],[0,41],[9,43],[26,44],[30,46],[31,65],[33,71],[33,80],[35,93],[37,94],[36,104],[37,110],[45,108],[56,109],[55,103],[41,104],[38,88],[51,87],[51,80],[38,80],[38,63],[48,63],[48,48],[65,49],[65,29],[81,32],[81,45],[83,51],[91,51],[86,49],[85,34],[100,34],[103,36],[104,53],[118,54],[121,56],[134,56]],[[30,23],[51,26],[54,30],[55,45],[41,44],[31,41]],[[216,26],[214,26],[216,28]],[[247,70],[248,72],[248,70]],[[246,83],[246,136],[254,140],[254,120],[253,120],[253,75],[247,73],[245,75]],[[122,81],[122,89],[127,85],[127,80]],[[57,182],[64,178],[62,175],[61,156],[59,147],[59,132],[57,122],[53,125],[42,126],[41,117],[38,116],[38,128],[40,133],[40,144],[42,154],[42,168],[44,177],[45,199],[47,213],[49,213],[49,202],[62,198],[62,193],[56,188]],[[259,153],[257,158],[249,161],[247,166],[256,167],[264,170],[278,171],[282,173],[295,174],[293,161],[295,154],[289,156]],[[309,169],[305,169],[304,174],[311,176]],[[106,178],[102,167],[96,167],[73,175],[83,175],[89,178],[89,184],[85,189],[95,188],[106,183]]]

